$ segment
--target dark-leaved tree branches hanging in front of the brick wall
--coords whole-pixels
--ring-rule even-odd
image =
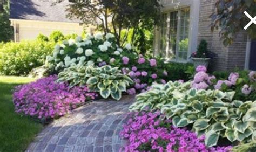
[[[218,0],[216,12],[211,15],[211,30],[220,28],[220,37],[225,46],[233,43],[235,36],[251,20],[244,15],[247,11],[252,17],[256,16],[256,0]],[[246,30],[252,38],[256,38],[256,25],[252,24]]]

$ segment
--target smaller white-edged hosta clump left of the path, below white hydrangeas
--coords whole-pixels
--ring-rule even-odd
[[[89,78],[87,86],[92,91],[99,92],[105,99],[111,95],[113,99],[120,100],[126,87],[133,84],[132,79],[122,74],[118,67],[87,67],[86,77]]]

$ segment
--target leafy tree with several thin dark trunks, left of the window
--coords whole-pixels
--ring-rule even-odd
[[[130,29],[133,29],[133,43],[140,28],[152,29],[159,23],[161,5],[158,0],[69,1],[68,17],[79,18],[85,25],[96,25],[105,34],[113,32],[121,46]],[[121,39],[123,29],[127,29],[127,33]]]

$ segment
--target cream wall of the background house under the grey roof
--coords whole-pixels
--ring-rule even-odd
[[[79,23],[66,23],[66,22],[44,22],[38,20],[21,20],[11,19],[11,23],[15,29],[15,41],[19,42],[23,39],[35,39],[39,33],[49,36],[52,31],[59,30],[62,33],[82,34],[84,27]],[[90,28],[86,29],[90,32]]]

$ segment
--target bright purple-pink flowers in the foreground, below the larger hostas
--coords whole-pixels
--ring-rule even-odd
[[[130,114],[120,132],[129,142],[120,151],[231,151],[231,146],[207,148],[204,136],[198,138],[186,128],[175,128],[171,120],[163,118],[160,112]]]

